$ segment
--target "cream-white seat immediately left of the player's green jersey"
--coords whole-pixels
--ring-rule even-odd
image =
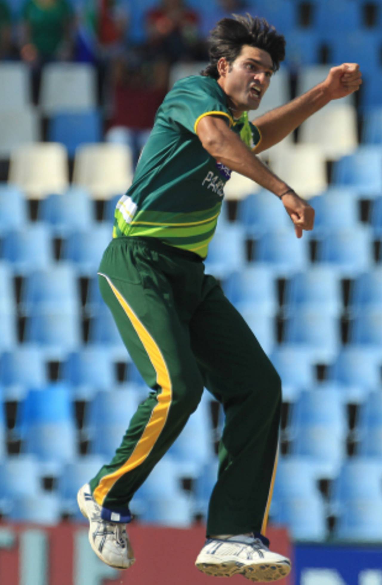
[[[132,151],[125,144],[82,144],[74,157],[73,184],[94,199],[122,195],[132,183]]]

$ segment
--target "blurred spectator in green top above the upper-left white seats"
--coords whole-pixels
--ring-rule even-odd
[[[45,63],[69,60],[74,19],[67,0],[26,0],[22,8],[21,58],[32,67],[33,99],[37,102]]]

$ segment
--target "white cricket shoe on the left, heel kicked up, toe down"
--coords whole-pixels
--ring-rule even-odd
[[[110,522],[101,517],[101,506],[91,494],[89,484],[85,484],[77,494],[78,506],[90,523],[89,542],[95,554],[106,565],[116,569],[128,569],[134,562],[126,524]]]

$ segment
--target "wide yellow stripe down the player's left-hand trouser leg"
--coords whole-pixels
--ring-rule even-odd
[[[147,355],[150,358],[150,362],[153,364],[154,370],[156,371],[157,384],[162,388],[161,393],[158,395],[157,405],[153,408],[149,422],[144,428],[143,434],[137,442],[132,454],[129,459],[123,463],[122,467],[117,469],[115,472],[102,477],[98,486],[95,488],[93,497],[99,505],[105,500],[106,495],[109,493],[116,481],[119,480],[125,473],[128,473],[135,467],[141,465],[150,451],[153,449],[164,425],[166,424],[168,409],[171,405],[172,387],[170,374],[168,373],[166,362],[164,361],[163,355],[156,342],[147,331],[146,327],[139,321],[133,309],[123,298],[121,292],[113,285],[110,278],[105,274],[98,273],[108,281],[113,293],[121,304],[123,311],[130,319],[130,322],[135,329],[137,336]]]

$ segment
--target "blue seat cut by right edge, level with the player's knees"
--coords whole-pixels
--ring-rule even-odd
[[[381,367],[378,348],[372,351],[369,347],[345,346],[329,368],[328,377],[346,386],[362,388],[365,397],[370,390],[380,386]]]

